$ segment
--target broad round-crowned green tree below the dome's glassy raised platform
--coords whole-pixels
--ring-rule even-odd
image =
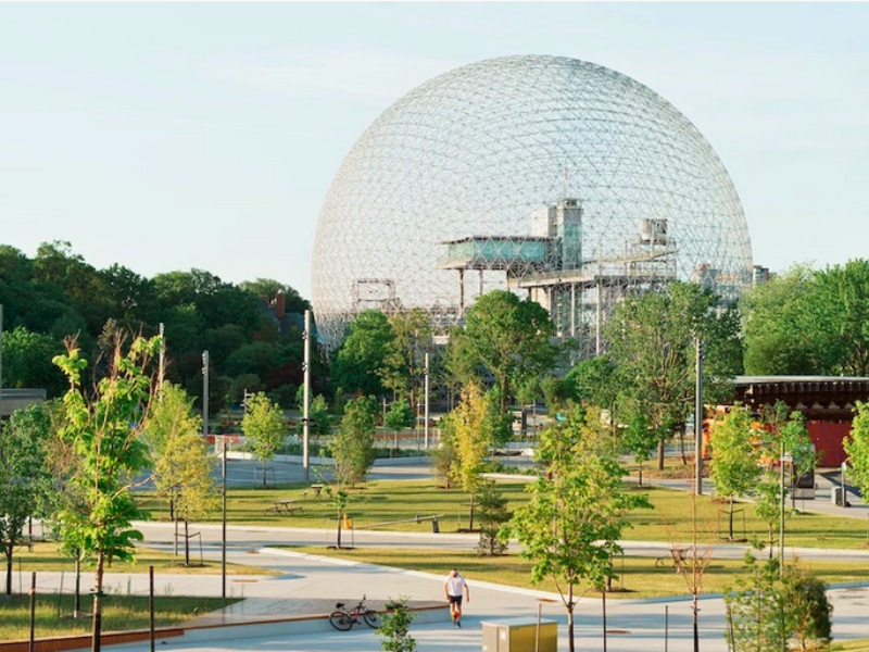
[[[513,292],[493,290],[477,298],[465,315],[451,346],[457,367],[477,368],[477,377],[491,374],[500,390],[501,412],[513,390],[529,377],[550,371],[557,358],[554,328],[546,310]],[[454,342],[452,340],[455,340]]]

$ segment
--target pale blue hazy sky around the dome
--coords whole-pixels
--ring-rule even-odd
[[[311,298],[319,209],[363,130],[508,54],[671,102],[730,173],[755,264],[869,258],[866,2],[0,2],[0,244]]]

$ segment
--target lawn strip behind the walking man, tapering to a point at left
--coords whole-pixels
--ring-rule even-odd
[[[450,568],[462,569],[468,582],[489,581],[494,584],[539,589],[557,592],[555,585],[546,580],[532,585],[531,565],[516,554],[499,557],[478,556],[473,551],[451,551],[449,554],[432,554],[430,550],[418,548],[355,548],[352,550],[333,550],[324,547],[291,548],[294,552],[318,554],[343,560],[380,564],[398,568],[407,568],[423,573],[446,577]],[[801,566],[810,570],[829,584],[869,581],[869,567],[840,562],[801,562]],[[689,592],[685,576],[673,568],[656,568],[655,557],[625,556],[617,557],[615,563],[619,579],[613,582],[613,598],[662,598],[684,595]],[[745,565],[741,560],[714,560],[703,576],[703,593],[720,593],[733,586],[734,579],[742,574]],[[591,593],[590,593],[591,595]]]

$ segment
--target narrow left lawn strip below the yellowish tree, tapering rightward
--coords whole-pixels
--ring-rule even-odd
[[[53,543],[36,543],[33,552],[26,548],[15,551],[13,557],[13,568],[17,573],[18,568],[22,572],[32,573],[40,570],[64,570],[70,573],[70,581],[73,581],[72,574],[75,572],[75,562],[67,556],[63,556],[58,552],[56,546]],[[204,560],[202,566],[191,566],[189,568],[182,565],[184,555],[177,557],[172,554],[152,550],[150,548],[136,548],[136,563],[127,564],[124,562],[115,561],[111,566],[106,566],[106,573],[148,573],[148,567],[153,566],[154,573],[159,574],[177,574],[177,575],[221,575],[222,567],[219,561]],[[191,564],[199,563],[198,554],[194,555],[191,551]],[[277,570],[269,570],[268,568],[260,568],[256,566],[242,566],[240,564],[227,564],[227,575],[279,575]],[[91,567],[85,563],[81,564],[81,575],[86,578],[83,586],[90,581],[92,575]],[[5,581],[5,566],[2,573],[3,581]]]

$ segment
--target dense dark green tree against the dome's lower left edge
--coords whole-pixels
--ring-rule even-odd
[[[392,346],[389,318],[376,310],[366,310],[353,322],[332,365],[336,385],[356,396],[383,393],[380,372]]]

